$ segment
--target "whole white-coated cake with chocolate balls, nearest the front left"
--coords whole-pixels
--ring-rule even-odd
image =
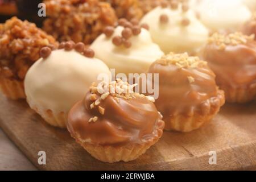
[[[109,68],[83,43],[61,43],[55,51],[44,47],[40,55],[24,81],[27,102],[50,125],[64,128],[69,109],[99,74],[110,77]]]

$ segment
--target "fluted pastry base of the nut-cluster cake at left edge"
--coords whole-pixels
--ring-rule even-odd
[[[0,79],[0,89],[6,97],[12,100],[18,100],[20,98],[26,98],[24,93],[23,81],[10,80],[8,78]]]

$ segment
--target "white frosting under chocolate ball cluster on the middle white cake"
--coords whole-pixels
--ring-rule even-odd
[[[105,34],[98,36],[91,45],[98,59],[104,61],[115,73],[143,73],[146,72],[156,59],[163,56],[159,46],[152,42],[150,33],[141,28],[141,34],[131,36],[130,48],[117,47],[112,43],[113,36],[121,36],[123,27],[118,26],[114,34],[107,38]]]

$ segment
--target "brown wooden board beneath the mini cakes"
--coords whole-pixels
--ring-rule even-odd
[[[256,169],[256,103],[226,104],[209,125],[191,133],[164,132],[146,154],[132,162],[92,158],[67,130],[47,125],[26,101],[0,95],[0,126],[28,159],[46,170],[227,170]],[[38,151],[46,151],[46,165]],[[217,164],[209,164],[209,151]]]

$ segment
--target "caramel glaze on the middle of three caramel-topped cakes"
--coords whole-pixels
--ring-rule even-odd
[[[155,105],[163,114],[163,121],[178,114],[192,116],[208,114],[210,107],[223,105],[216,86],[215,75],[207,64],[196,68],[180,68],[175,64],[153,63],[149,73],[159,73],[159,97]],[[189,81],[193,78],[193,82]]]

